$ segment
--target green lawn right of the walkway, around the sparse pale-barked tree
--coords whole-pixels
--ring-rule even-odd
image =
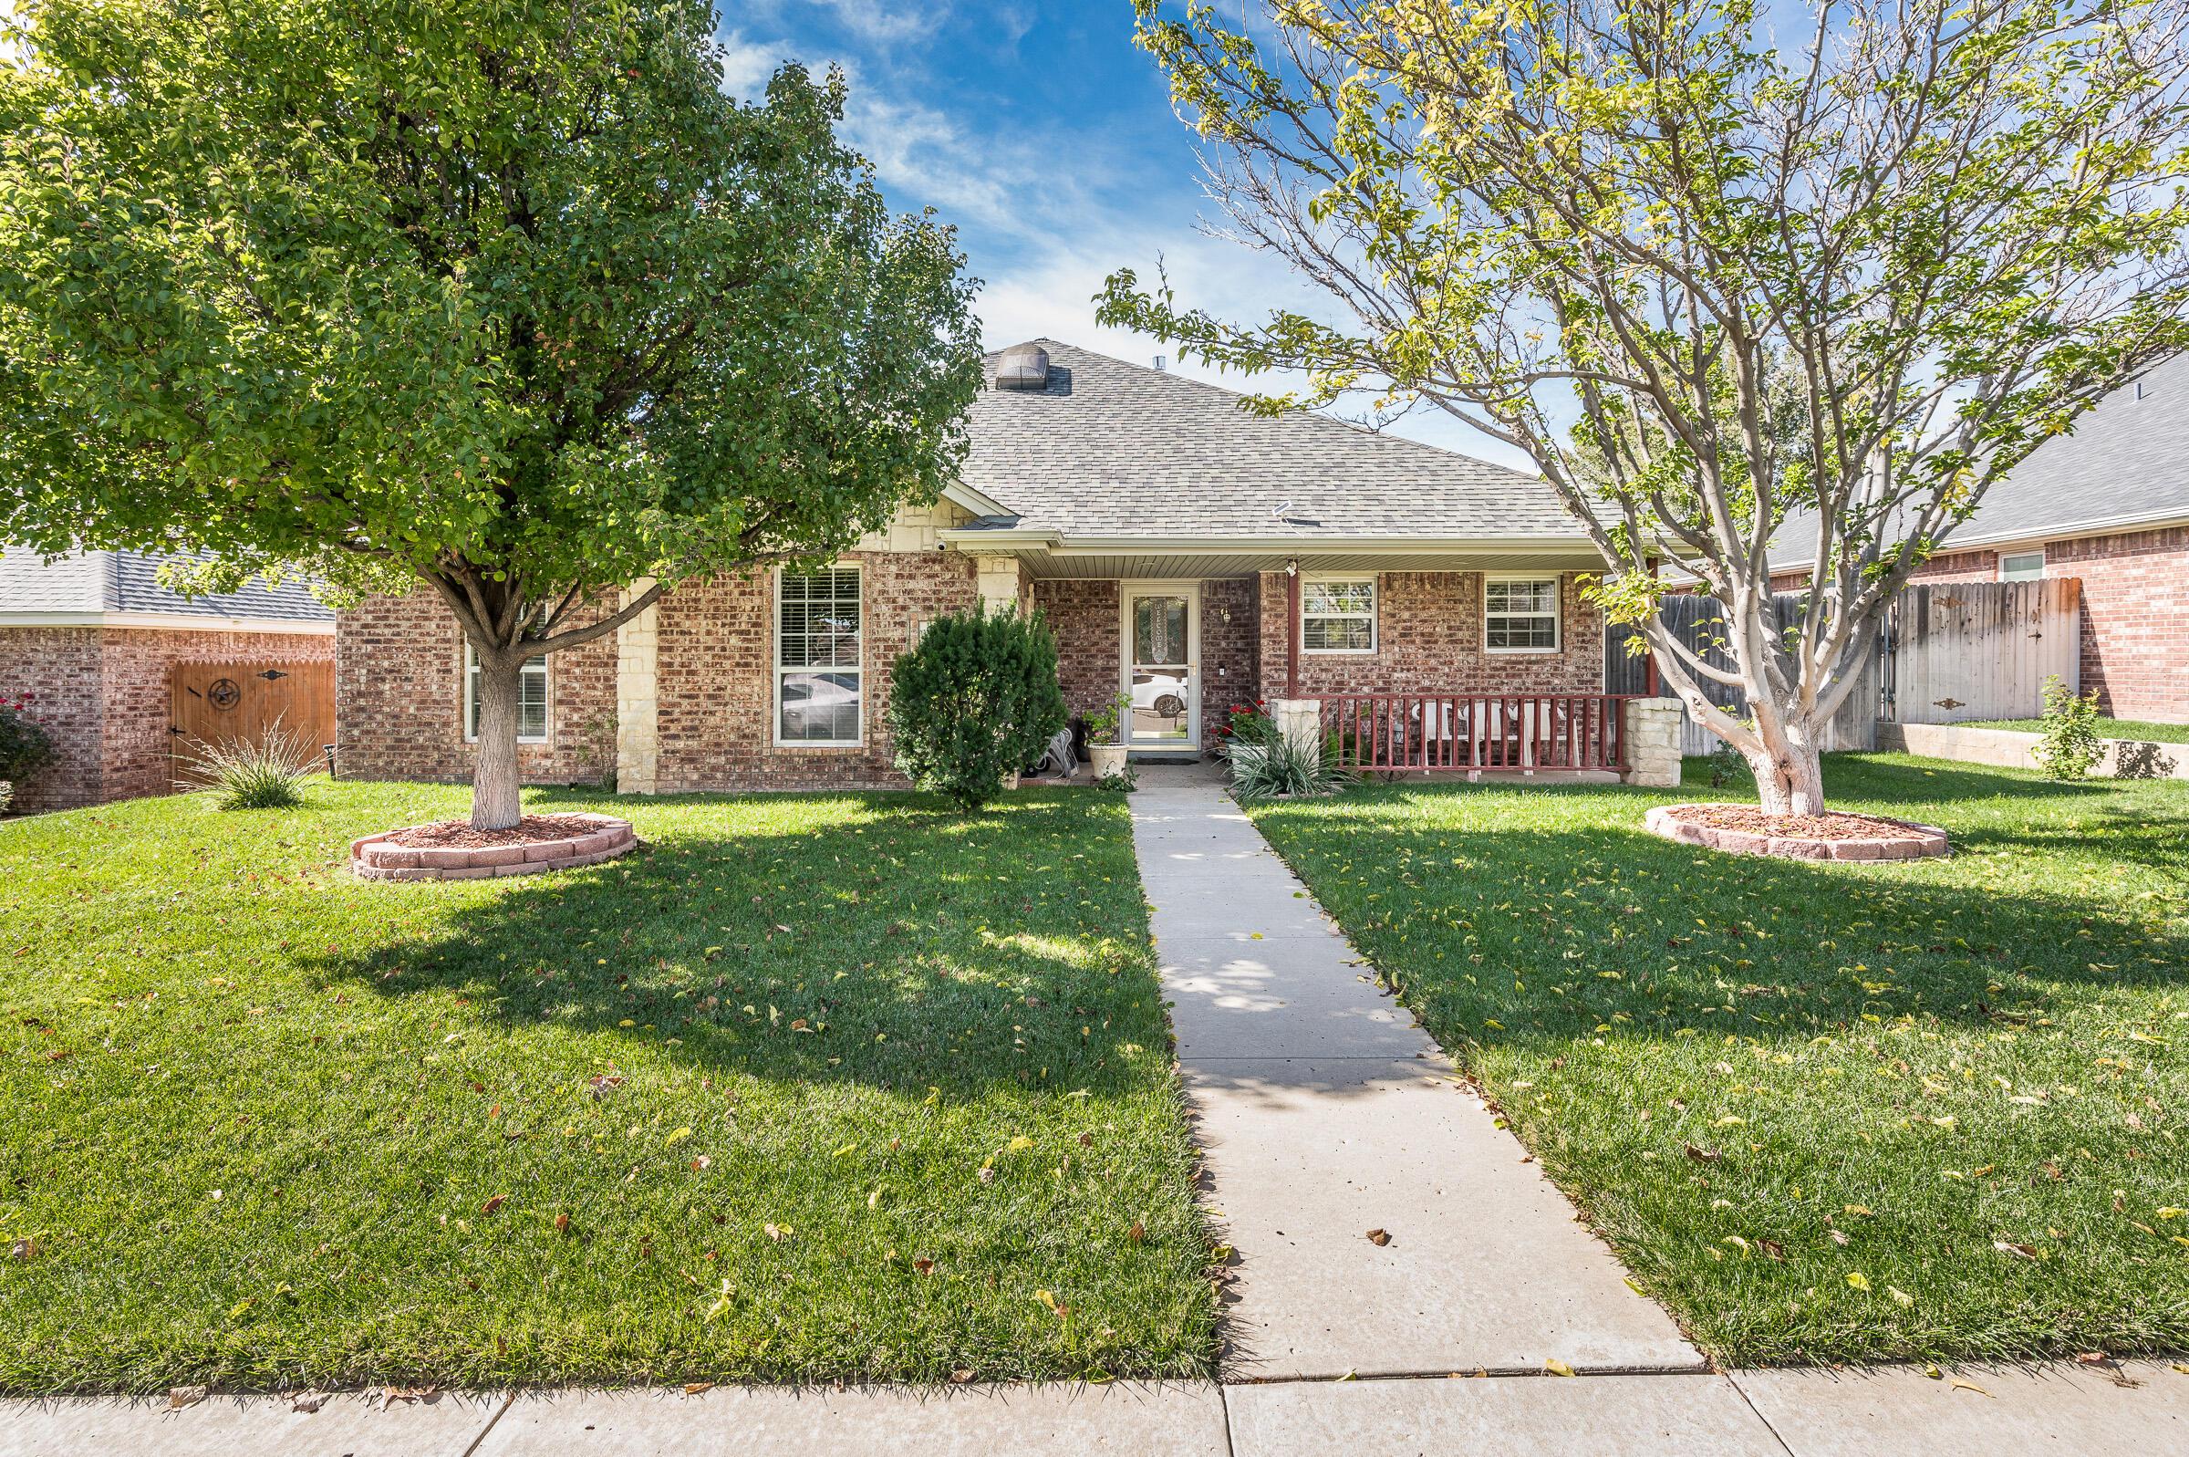
[[[1909,865],[1679,798],[1368,787],[1254,822],[1727,1363],[2189,1347],[2189,784],[1834,756]]]

